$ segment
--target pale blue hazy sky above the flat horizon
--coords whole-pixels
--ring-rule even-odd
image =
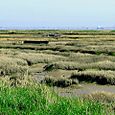
[[[0,0],[0,27],[115,27],[115,0]]]

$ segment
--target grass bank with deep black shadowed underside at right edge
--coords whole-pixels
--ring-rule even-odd
[[[96,82],[98,84],[111,84],[115,85],[115,73],[113,71],[104,70],[86,70],[76,72],[71,75],[71,78],[77,78],[80,82]]]

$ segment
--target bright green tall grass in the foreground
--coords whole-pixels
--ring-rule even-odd
[[[84,99],[57,96],[42,85],[0,87],[1,115],[103,115],[104,107]]]

